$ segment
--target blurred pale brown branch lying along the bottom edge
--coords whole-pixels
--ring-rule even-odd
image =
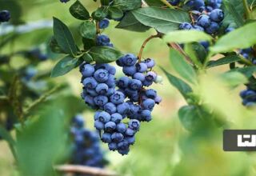
[[[105,169],[90,167],[90,166],[79,166],[79,165],[61,165],[55,166],[55,170],[65,173],[80,173],[86,175],[97,175],[97,176],[117,176],[118,174]]]

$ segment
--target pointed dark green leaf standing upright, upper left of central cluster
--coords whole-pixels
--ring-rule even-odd
[[[58,18],[54,18],[54,38],[58,42],[58,46],[67,54],[74,56],[78,53],[69,28]]]

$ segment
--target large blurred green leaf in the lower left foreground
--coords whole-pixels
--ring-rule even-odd
[[[54,165],[69,150],[66,146],[66,124],[74,114],[81,112],[81,105],[79,98],[62,94],[35,110],[31,122],[17,133],[18,170],[21,175],[55,175]]]

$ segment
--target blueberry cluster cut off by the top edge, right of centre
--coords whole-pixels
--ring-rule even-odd
[[[224,19],[224,12],[220,9],[222,0],[209,0],[207,4],[203,0],[190,0],[186,2],[192,11],[194,24],[183,22],[180,30],[200,30],[207,34],[215,34],[218,32]],[[202,42],[202,46],[206,49],[209,46],[208,42]]]

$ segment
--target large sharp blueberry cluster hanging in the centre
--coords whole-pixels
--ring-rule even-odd
[[[158,80],[152,71],[153,59],[138,62],[134,54],[126,54],[117,64],[122,66],[126,76],[116,81],[114,66],[83,63],[80,66],[82,98],[88,106],[98,110],[94,114],[94,126],[102,134],[102,142],[108,143],[110,150],[128,154],[140,122],[151,120],[154,105],[162,99],[155,90],[143,88]],[[125,118],[130,118],[128,124],[122,122]]]

